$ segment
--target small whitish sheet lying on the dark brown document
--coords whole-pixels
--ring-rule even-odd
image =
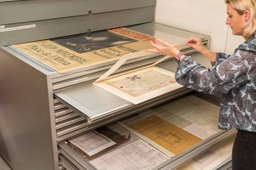
[[[96,131],[89,131],[88,133],[69,139],[68,142],[79,147],[80,150],[84,151],[89,156],[97,154],[98,152],[116,144],[111,139],[97,133]]]

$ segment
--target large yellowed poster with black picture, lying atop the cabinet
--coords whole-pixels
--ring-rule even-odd
[[[127,28],[85,33],[13,45],[15,50],[63,73],[113,61],[123,54],[152,48],[155,38]]]

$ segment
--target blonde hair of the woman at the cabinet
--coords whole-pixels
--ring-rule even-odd
[[[225,3],[230,4],[240,15],[243,15],[246,10],[250,11],[250,19],[243,30],[243,37],[248,40],[256,31],[256,0],[225,0]]]

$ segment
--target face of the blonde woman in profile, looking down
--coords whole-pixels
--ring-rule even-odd
[[[238,14],[238,12],[228,3],[226,13],[228,18],[226,19],[226,24],[232,29],[233,35],[243,34],[243,25],[246,23],[245,12],[243,15]]]

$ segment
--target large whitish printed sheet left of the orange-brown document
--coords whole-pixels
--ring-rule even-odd
[[[90,162],[99,170],[152,169],[168,157],[148,143],[138,139]]]

